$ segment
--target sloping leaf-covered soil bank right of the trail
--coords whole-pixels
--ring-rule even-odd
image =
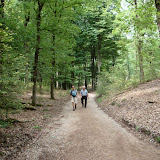
[[[128,126],[140,139],[160,147],[156,143],[160,137],[160,80],[103,100],[99,107],[122,126]]]

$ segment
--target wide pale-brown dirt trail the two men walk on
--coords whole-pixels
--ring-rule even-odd
[[[155,147],[128,133],[89,96],[87,108],[79,102],[74,112],[68,102],[61,118],[16,160],[160,160]]]

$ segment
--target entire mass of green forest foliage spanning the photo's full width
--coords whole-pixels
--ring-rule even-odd
[[[0,108],[6,115],[19,106],[19,91],[33,85],[38,42],[36,85],[41,93],[50,91],[53,76],[58,88],[85,82],[97,86],[99,95],[121,92],[140,83],[140,57],[144,80],[160,77],[153,1],[137,1],[137,6],[107,0],[40,3],[44,6],[38,21],[38,0],[5,1],[5,16],[0,12]]]

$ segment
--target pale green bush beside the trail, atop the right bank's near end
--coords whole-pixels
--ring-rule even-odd
[[[129,78],[127,71],[120,67],[101,73],[98,79],[96,91],[99,95],[114,95],[140,83],[136,75]]]

